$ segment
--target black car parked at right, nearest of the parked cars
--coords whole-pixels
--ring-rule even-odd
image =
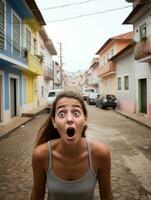
[[[96,100],[96,106],[101,109],[107,107],[115,109],[117,107],[115,95],[113,94],[100,95]]]

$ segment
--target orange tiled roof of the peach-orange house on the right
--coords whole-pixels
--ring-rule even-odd
[[[124,41],[124,40],[131,40],[132,38],[133,38],[133,32],[127,32],[127,33],[123,33],[123,34],[111,37],[103,44],[103,46],[96,52],[96,54],[99,54],[99,52],[102,51],[113,40]]]

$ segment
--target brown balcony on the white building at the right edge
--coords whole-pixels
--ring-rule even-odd
[[[151,36],[136,43],[135,60],[140,60],[141,62],[151,61]]]

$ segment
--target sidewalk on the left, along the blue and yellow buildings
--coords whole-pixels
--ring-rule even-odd
[[[0,140],[7,137],[12,131],[23,126],[30,120],[32,120],[35,115],[45,110],[45,106],[33,109],[31,112],[24,113],[22,117],[13,117],[8,123],[0,123]]]

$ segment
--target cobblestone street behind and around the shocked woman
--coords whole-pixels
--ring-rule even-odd
[[[111,151],[114,199],[151,200],[151,129],[110,109],[87,108],[87,136],[108,144]],[[32,150],[47,117],[41,113],[0,140],[0,200],[29,199]]]

